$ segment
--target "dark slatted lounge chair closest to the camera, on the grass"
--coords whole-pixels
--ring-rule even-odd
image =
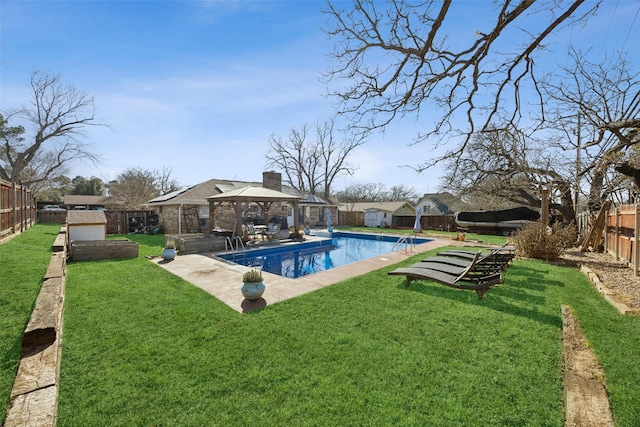
[[[460,274],[444,271],[447,267],[441,267],[441,269],[437,270],[421,266],[421,263],[414,264],[410,267],[398,268],[388,272],[387,274],[390,276],[405,276],[405,288],[409,288],[413,280],[431,280],[455,289],[476,291],[478,298],[482,299],[489,288],[503,283],[503,281],[502,273],[476,274],[477,270],[474,270],[474,268],[479,257],[480,253],[476,253],[471,264],[463,268],[460,271]],[[441,266],[447,265],[448,264],[441,264]]]

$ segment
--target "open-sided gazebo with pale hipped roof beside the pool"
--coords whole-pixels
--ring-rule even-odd
[[[215,227],[215,210],[222,203],[231,203],[236,213],[235,235],[242,236],[242,204],[256,203],[263,212],[269,212],[274,202],[287,202],[293,206],[293,225],[298,229],[298,201],[300,197],[292,196],[280,191],[270,190],[264,187],[247,186],[237,190],[228,191],[215,196],[207,197],[209,201],[209,219],[211,226]]]

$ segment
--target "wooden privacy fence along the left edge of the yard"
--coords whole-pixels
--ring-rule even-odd
[[[35,225],[36,215],[31,190],[0,179],[0,241]]]

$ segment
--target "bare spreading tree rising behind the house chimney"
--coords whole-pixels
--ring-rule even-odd
[[[353,175],[349,155],[365,142],[362,136],[346,133],[339,140],[336,133],[329,120],[317,123],[313,130],[307,125],[292,128],[288,140],[271,135],[267,167],[282,171],[288,185],[310,194],[322,191],[328,199],[336,177]]]

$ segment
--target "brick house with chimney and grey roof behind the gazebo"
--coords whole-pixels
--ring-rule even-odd
[[[158,223],[168,234],[180,233],[209,233],[212,221],[216,228],[235,229],[236,216],[231,206],[220,206],[210,212],[207,197],[238,190],[243,187],[264,187],[275,191],[300,197],[299,223],[318,225],[325,222],[325,210],[333,209],[323,199],[309,194],[302,194],[294,188],[282,185],[282,175],[278,172],[264,172],[262,182],[231,181],[210,179],[183,190],[174,191],[164,196],[156,197],[147,202],[150,209],[158,215]],[[268,217],[267,217],[268,215]],[[274,203],[269,212],[263,212],[257,203],[249,203],[243,210],[243,222],[266,224],[273,217],[286,217],[289,226],[294,224],[293,208],[288,203]]]

